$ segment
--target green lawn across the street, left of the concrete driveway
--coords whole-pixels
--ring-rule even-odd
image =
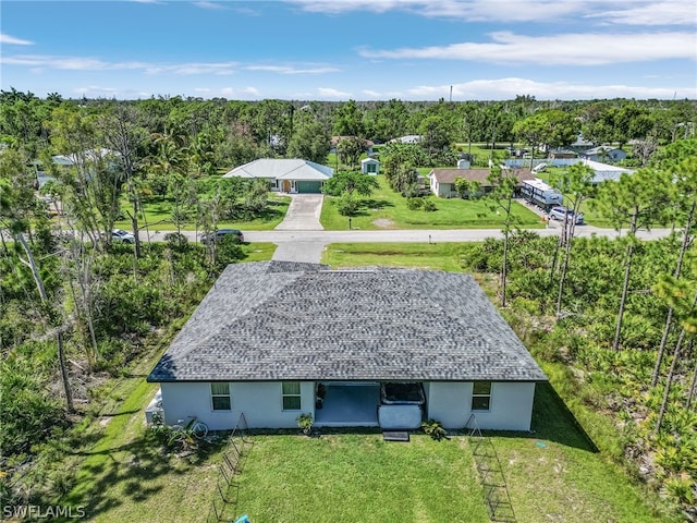
[[[291,205],[290,196],[282,196],[278,194],[269,194],[269,204],[266,214],[261,218],[257,218],[250,221],[221,221],[218,223],[218,228],[236,228],[242,230],[252,231],[270,231],[278,226],[285,217],[285,211],[289,205]],[[124,203],[123,209],[130,209],[129,204]],[[144,216],[140,216],[139,226],[145,228],[145,223],[151,231],[172,231],[176,228],[172,223],[172,203],[168,198],[152,197],[143,203]],[[123,214],[127,218],[127,214]],[[129,219],[118,221],[114,224],[115,228],[131,230],[131,221]],[[182,226],[182,230],[193,231],[196,229],[194,223],[186,223]]]

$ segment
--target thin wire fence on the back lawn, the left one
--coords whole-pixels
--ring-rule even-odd
[[[244,413],[241,413],[235,428],[228,436],[228,442],[218,465],[216,492],[206,523],[229,522],[235,519],[229,518],[228,513],[237,506],[240,485],[235,482],[235,477],[242,473],[247,449],[252,445],[247,430],[247,419]]]

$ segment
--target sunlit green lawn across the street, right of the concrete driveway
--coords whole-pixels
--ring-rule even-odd
[[[489,208],[486,200],[437,198],[435,211],[409,210],[406,198],[392,191],[383,175],[377,177],[380,188],[367,198],[360,198],[358,212],[351,217],[352,228],[381,229],[497,229],[502,227],[503,215]],[[326,196],[320,222],[326,230],[338,231],[348,227],[348,217],[337,210],[337,197]],[[526,229],[545,227],[539,217],[525,206],[514,203],[517,226]]]

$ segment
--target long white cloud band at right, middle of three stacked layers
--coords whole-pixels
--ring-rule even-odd
[[[524,36],[492,33],[491,42],[463,42],[450,46],[362,49],[366,58],[466,60],[540,65],[604,65],[664,59],[695,59],[695,33],[562,34]],[[550,52],[553,50],[553,52]]]

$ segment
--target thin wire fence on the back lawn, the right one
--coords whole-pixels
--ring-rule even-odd
[[[501,462],[497,455],[493,442],[481,435],[477,418],[469,416],[465,428],[469,428],[469,439],[473,442],[473,455],[477,473],[484,489],[484,497],[489,509],[489,520],[502,523],[516,523],[515,512],[505,484],[505,476]]]

